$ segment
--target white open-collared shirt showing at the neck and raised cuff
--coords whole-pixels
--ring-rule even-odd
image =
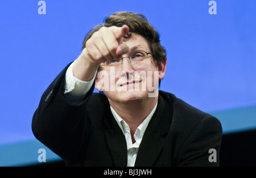
[[[89,89],[92,87],[94,77],[90,81],[81,81],[75,76],[73,76],[73,63],[68,67],[66,72],[66,82],[65,82],[65,92],[64,94],[72,94],[73,96],[83,96],[86,94]],[[141,144],[143,135],[147,129],[147,125],[150,122],[152,115],[155,113],[157,103],[151,113],[144,119],[141,125],[138,126],[137,130],[134,133],[135,143],[131,140],[130,127],[127,123],[115,112],[112,106],[110,106],[110,110],[114,115],[115,121],[117,121],[120,129],[125,135],[126,144],[127,144],[127,167],[133,167],[135,164],[135,160],[137,158],[139,145]]]

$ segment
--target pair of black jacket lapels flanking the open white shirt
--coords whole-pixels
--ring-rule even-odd
[[[163,151],[164,140],[171,126],[172,104],[159,95],[158,106],[144,133],[135,166],[154,166]],[[110,108],[104,114],[105,139],[113,158],[114,166],[127,166],[127,145],[125,135],[115,121]]]

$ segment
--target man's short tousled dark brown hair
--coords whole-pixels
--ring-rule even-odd
[[[161,63],[166,61],[166,49],[164,49],[160,44],[159,34],[155,28],[148,23],[146,16],[127,11],[117,12],[106,16],[103,23],[92,28],[85,36],[82,49],[85,48],[87,40],[92,37],[94,32],[100,30],[101,27],[122,27],[124,24],[129,26],[129,34],[127,34],[125,38],[129,38],[131,33],[134,33],[143,36],[147,40],[150,51],[154,55],[154,62],[156,66],[159,66]]]

